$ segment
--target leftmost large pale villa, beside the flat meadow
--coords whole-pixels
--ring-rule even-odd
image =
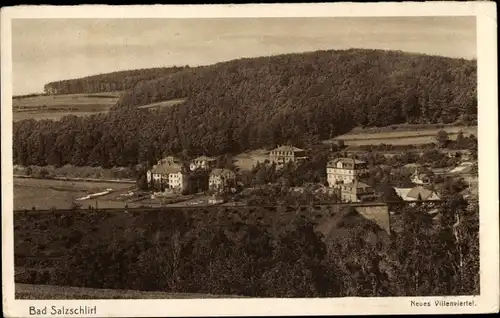
[[[188,174],[182,163],[173,157],[158,161],[147,172],[148,183],[162,191],[182,192],[188,188]]]

